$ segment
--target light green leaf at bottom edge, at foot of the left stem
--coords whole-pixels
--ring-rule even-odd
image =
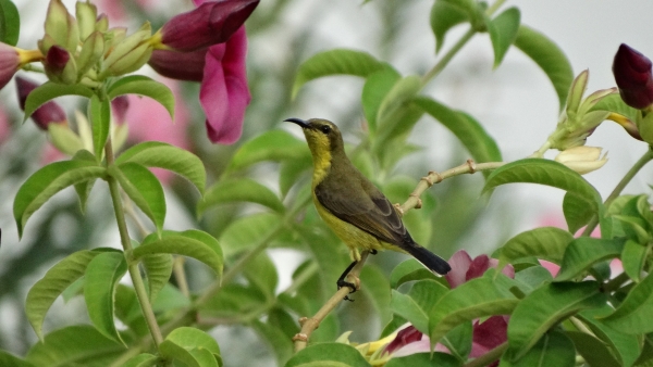
[[[181,360],[189,367],[222,366],[218,342],[196,328],[181,327],[172,330],[159,345],[159,352],[161,356]]]

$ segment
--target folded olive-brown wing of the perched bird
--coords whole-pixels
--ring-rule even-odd
[[[336,186],[337,185],[337,186]],[[369,181],[325,179],[315,189],[331,214],[383,242],[401,245],[406,228],[390,201]]]

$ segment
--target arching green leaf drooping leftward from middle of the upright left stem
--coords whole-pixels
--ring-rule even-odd
[[[54,162],[34,173],[21,186],[14,199],[13,214],[19,237],[27,219],[53,194],[75,184],[104,176],[104,167],[83,161]]]

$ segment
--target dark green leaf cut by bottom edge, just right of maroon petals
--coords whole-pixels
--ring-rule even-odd
[[[519,360],[509,362],[510,353],[506,352],[501,360],[502,366],[509,367],[574,367],[576,350],[574,342],[558,331],[547,332]]]

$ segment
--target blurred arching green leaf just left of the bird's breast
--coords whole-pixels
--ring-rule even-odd
[[[280,214],[285,212],[279,197],[267,186],[250,178],[232,178],[218,181],[209,188],[204,200],[197,204],[197,213],[201,215],[211,206],[239,201],[261,204]]]

